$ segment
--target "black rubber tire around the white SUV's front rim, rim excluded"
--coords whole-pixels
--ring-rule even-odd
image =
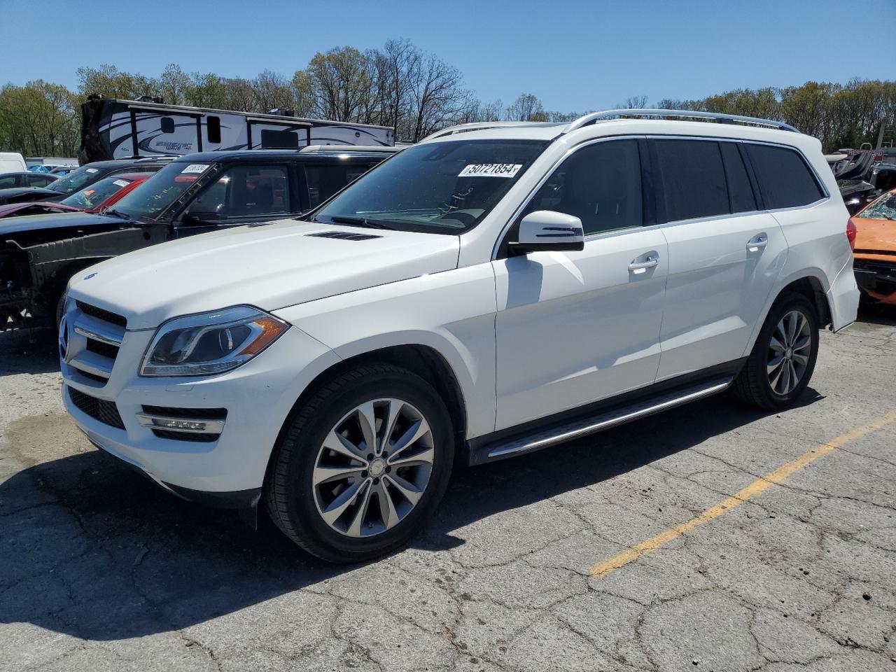
[[[315,504],[312,474],[324,438],[340,418],[366,401],[383,398],[412,404],[426,418],[432,432],[433,466],[423,495],[401,521],[374,536],[352,538],[323,521]],[[265,501],[277,527],[314,556],[331,563],[355,563],[401,547],[423,526],[451,477],[454,432],[444,402],[418,375],[398,366],[361,366],[336,376],[306,401],[271,459]]]

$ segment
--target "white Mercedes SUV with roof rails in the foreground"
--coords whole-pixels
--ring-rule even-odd
[[[263,500],[356,561],[420,528],[455,461],[731,386],[786,408],[819,328],[856,317],[848,220],[820,143],[777,122],[459,126],[301,220],[80,273],[65,406],[162,487],[249,521]]]

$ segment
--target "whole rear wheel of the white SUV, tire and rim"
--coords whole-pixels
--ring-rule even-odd
[[[771,306],[735,390],[766,410],[793,405],[806,389],[818,357],[818,318],[802,294],[787,292]]]

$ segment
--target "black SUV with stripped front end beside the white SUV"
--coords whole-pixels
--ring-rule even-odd
[[[109,257],[307,211],[394,151],[311,147],[192,154],[168,161],[101,213],[0,220],[0,325],[26,313],[53,317],[73,273]]]

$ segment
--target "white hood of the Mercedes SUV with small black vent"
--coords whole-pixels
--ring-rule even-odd
[[[110,259],[78,273],[69,294],[125,315],[128,329],[154,329],[177,315],[241,304],[271,312],[448,271],[459,250],[457,236],[280,220]]]

